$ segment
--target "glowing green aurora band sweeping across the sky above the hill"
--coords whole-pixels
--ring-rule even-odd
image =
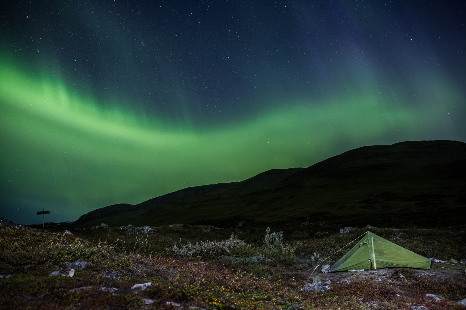
[[[0,63],[0,191],[5,216],[27,224],[41,220],[42,207],[51,211],[46,221],[75,220],[363,145],[452,139],[451,114],[464,102],[446,79],[425,86],[428,101],[410,105],[377,90],[374,79],[350,95],[293,100],[242,123],[195,128],[97,104],[56,76],[17,68]]]

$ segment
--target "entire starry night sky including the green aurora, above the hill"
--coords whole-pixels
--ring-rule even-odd
[[[465,1],[7,1],[0,216],[466,142]]]

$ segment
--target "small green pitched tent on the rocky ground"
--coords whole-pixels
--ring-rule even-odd
[[[430,269],[431,260],[368,231],[330,272],[386,267]]]

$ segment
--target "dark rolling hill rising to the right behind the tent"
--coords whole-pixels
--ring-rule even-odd
[[[82,215],[74,227],[106,223],[272,223],[445,226],[466,219],[466,144],[406,141],[363,146],[307,168],[272,169],[242,182],[185,188],[140,204]]]

